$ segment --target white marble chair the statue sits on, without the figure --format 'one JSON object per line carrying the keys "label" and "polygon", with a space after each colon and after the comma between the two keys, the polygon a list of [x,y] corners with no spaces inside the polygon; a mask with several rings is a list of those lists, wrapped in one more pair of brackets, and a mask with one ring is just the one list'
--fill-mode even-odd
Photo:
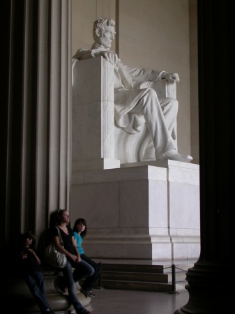
{"label": "white marble chair the statue sits on, without the figure", "polygon": [[[135,134],[115,125],[113,71],[103,57],[73,59],[73,170],[108,169],[154,159],[145,124]],[[176,98],[176,84],[167,80],[145,82],[144,87],[155,89],[158,98]]]}

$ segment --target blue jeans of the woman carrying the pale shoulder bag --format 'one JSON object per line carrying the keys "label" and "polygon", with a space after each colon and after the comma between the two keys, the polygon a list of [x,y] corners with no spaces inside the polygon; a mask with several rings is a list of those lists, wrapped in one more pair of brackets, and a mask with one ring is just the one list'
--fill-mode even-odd
{"label": "blue jeans of the woman carrying the pale shoulder bag", "polygon": [[[73,271],[73,268],[75,270]],[[82,304],[77,299],[77,295],[75,294],[75,283],[86,276],[91,276],[94,272],[93,267],[84,261],[75,263],[67,260],[66,266],[61,269],[63,272],[63,276],[66,280],[67,287],[68,287],[68,296],[70,298],[71,304],[75,308],[76,313],[86,313]]]}

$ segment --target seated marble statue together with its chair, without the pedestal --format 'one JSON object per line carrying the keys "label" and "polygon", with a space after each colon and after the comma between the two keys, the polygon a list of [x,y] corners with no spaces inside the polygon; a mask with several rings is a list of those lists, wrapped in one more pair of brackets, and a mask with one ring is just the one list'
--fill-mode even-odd
{"label": "seated marble statue together with its chair, without the pedestal", "polygon": [[[73,56],[76,169],[84,169],[80,159],[95,157],[116,158],[121,163],[189,162],[190,156],[177,151],[175,84],[179,75],[123,65],[110,50],[114,25],[112,19],[96,20],[91,49],[80,48]],[[90,163],[90,169],[96,169],[96,163]]]}

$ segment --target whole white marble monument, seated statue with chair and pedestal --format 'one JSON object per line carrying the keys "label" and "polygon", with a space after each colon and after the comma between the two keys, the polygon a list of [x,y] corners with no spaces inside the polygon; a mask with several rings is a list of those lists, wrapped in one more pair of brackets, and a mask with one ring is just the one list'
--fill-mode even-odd
{"label": "whole white marble monument, seated statue with chair and pedestal", "polygon": [[[175,153],[179,77],[128,70],[109,50],[114,38],[109,22],[103,30],[95,27],[91,50],[78,50],[73,59],[71,223],[86,219],[89,236],[84,248],[92,257],[195,257],[199,167],[176,161],[191,159]],[[165,100],[158,100],[157,94]],[[140,96],[146,110],[135,106]],[[171,108],[170,131],[163,105]]]}

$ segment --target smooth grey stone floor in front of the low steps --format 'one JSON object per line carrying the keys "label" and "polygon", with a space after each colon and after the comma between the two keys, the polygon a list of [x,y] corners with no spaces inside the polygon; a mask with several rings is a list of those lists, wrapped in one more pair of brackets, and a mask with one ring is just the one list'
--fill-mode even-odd
{"label": "smooth grey stone floor in front of the low steps", "polygon": [[94,290],[93,314],[173,314],[188,302],[188,292],[176,294],[129,290]]}

